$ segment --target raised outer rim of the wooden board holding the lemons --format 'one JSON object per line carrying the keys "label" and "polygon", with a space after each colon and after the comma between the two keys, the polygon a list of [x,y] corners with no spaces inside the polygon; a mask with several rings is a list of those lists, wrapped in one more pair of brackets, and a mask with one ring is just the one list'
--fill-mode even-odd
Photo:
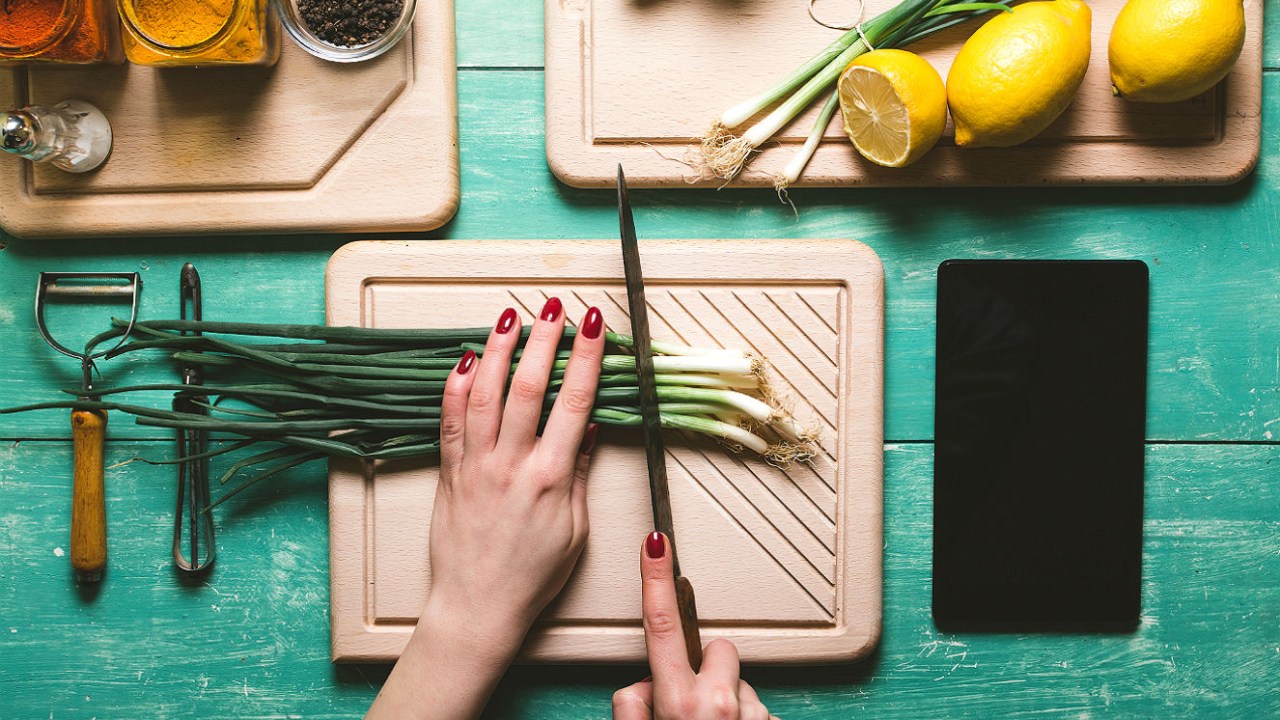
{"label": "raised outer rim of the wooden board holding the lemons", "polygon": [[[692,145],[663,145],[650,147],[644,143],[595,145],[589,137],[588,119],[584,118],[585,94],[589,92],[590,78],[579,76],[561,77],[559,69],[579,64],[579,45],[584,42],[580,32],[573,28],[573,19],[581,17],[590,0],[564,6],[559,0],[545,0],[545,108],[547,108],[547,164],[552,173],[564,184],[582,190],[613,187],[613,168],[621,163],[627,169],[627,182],[640,188],[758,188],[773,187],[773,177],[763,172],[745,170],[730,183],[718,178],[699,178],[694,167],[675,155],[684,155]],[[1235,67],[1228,76],[1225,86],[1219,87],[1225,108],[1236,104],[1239,110],[1224,113],[1222,140],[1201,146],[1130,146],[1140,151],[1137,168],[1124,172],[1051,172],[1037,174],[1006,174],[1009,165],[1028,165],[1034,168],[1039,149],[1015,147],[1004,150],[983,150],[978,152],[998,152],[998,163],[977,163],[980,170],[977,176],[963,173],[924,174],[902,170],[872,169],[873,177],[815,179],[823,172],[838,173],[836,154],[847,155],[852,149],[841,143],[819,146],[809,168],[801,174],[794,187],[1005,187],[1038,186],[1066,187],[1079,184],[1096,186],[1187,186],[1187,184],[1233,184],[1248,177],[1257,165],[1262,145],[1262,53],[1263,53],[1263,5],[1262,0],[1245,8],[1245,45]],[[1225,87],[1225,90],[1224,90]],[[1119,100],[1117,100],[1119,101]],[[561,133],[561,123],[553,118],[579,118],[568,133]],[[1064,146],[1060,164],[1106,168],[1111,163],[1114,142],[1073,143]],[[838,147],[837,147],[838,146]],[[957,149],[940,149],[959,154]],[[934,150],[937,152],[938,150]],[[975,151],[966,151],[974,156]],[[961,155],[957,155],[961,156]],[[672,173],[673,165],[684,170]],[[599,169],[596,169],[599,168]],[[824,170],[823,168],[828,168]],[[995,169],[992,169],[995,168]],[[1189,169],[1196,174],[1183,177]]]}

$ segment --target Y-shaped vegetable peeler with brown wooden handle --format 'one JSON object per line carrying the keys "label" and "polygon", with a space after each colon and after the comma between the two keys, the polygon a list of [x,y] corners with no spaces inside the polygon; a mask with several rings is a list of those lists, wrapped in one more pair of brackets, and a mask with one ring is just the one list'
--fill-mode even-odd
{"label": "Y-shaped vegetable peeler with brown wooden handle", "polygon": [[[40,273],[36,286],[36,329],[50,347],[81,361],[81,400],[93,389],[95,360],[124,345],[138,319],[138,273]],[[129,324],[120,342],[100,352],[77,352],[58,342],[45,323],[50,300],[93,301],[128,300]],[[102,441],[106,411],[72,410],[74,474],[72,477],[72,568],[82,582],[102,579],[106,569],[106,498],[102,483]]]}

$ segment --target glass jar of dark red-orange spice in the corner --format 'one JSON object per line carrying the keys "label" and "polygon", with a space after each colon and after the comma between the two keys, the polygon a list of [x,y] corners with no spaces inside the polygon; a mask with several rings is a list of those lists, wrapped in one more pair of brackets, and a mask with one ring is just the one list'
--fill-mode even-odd
{"label": "glass jar of dark red-orange spice in the corner", "polygon": [[0,64],[119,63],[113,0],[0,0]]}

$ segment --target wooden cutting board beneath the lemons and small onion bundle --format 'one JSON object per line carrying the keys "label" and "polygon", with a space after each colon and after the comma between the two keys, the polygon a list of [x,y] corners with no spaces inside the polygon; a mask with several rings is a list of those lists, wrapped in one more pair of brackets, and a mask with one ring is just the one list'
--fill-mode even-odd
{"label": "wooden cutting board beneath the lemons and small onion bundle", "polygon": [[[1068,111],[1012,149],[960,150],[947,131],[923,160],[900,169],[864,160],[838,114],[800,186],[1020,186],[1228,183],[1254,165],[1261,143],[1262,1],[1244,0],[1245,42],[1228,79],[1172,105],[1111,96],[1107,38],[1125,0],[1089,0],[1093,56]],[[865,0],[865,18],[899,0]],[[718,187],[699,178],[695,143],[722,111],[773,86],[841,35],[813,22],[806,0],[545,0],[547,158],[575,187],[612,187],[618,163],[641,187]],[[815,13],[852,22],[858,3],[823,0]],[[910,46],[945,79],[965,23]],[[773,187],[804,142],[817,105],[767,143],[732,183]]]}

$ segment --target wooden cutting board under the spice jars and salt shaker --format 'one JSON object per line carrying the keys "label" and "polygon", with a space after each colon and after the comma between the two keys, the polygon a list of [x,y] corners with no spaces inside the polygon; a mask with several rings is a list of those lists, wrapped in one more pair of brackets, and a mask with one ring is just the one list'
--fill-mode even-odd
{"label": "wooden cutting board under the spice jars and salt shaker", "polygon": [[0,69],[8,106],[93,102],[111,158],[74,176],[0,158],[19,237],[394,232],[458,205],[453,0],[422,0],[387,55],[343,65],[287,37],[273,68]]}

